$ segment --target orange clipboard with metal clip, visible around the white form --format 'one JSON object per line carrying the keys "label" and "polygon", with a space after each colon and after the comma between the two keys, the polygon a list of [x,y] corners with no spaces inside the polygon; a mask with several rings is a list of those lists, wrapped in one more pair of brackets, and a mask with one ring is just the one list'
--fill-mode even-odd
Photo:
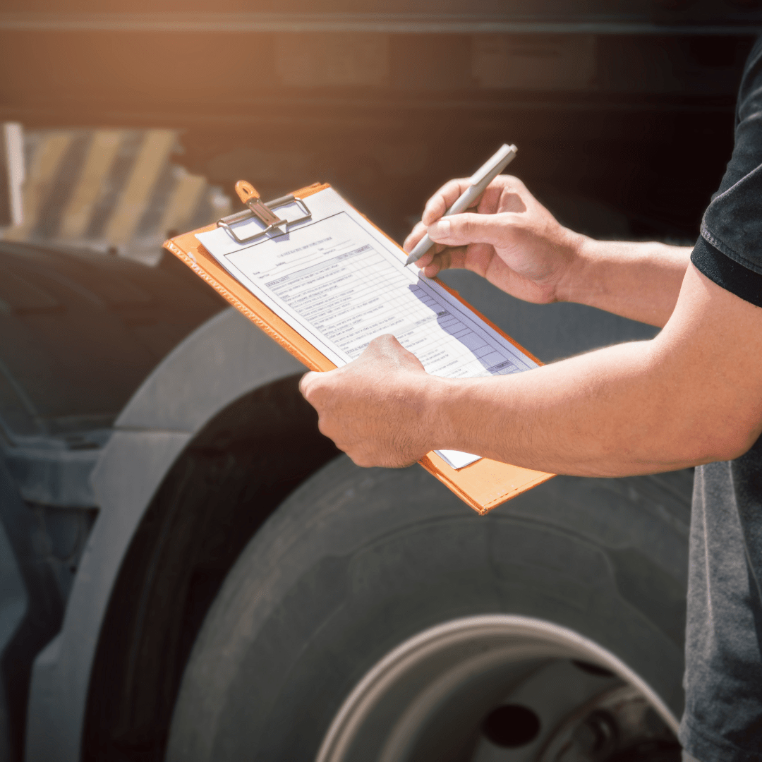
{"label": "orange clipboard with metal clip, visible around the white form", "polygon": [[[309,206],[306,202],[313,194],[324,191],[330,187],[327,183],[315,183],[307,187],[300,188],[298,191],[294,191],[293,194],[276,199],[271,202],[262,203],[259,200],[254,188],[245,181],[239,181],[236,184],[236,191],[239,192],[239,196],[245,203],[248,203],[249,209],[236,213],[235,215],[228,216],[218,221],[213,225],[208,225],[191,232],[177,235],[172,239],[169,239],[164,243],[164,248],[171,251],[178,259],[187,264],[194,273],[200,278],[206,280],[207,283],[216,290],[220,296],[223,296],[227,301],[242,312],[251,322],[264,331],[270,338],[277,341],[283,349],[296,357],[299,362],[303,363],[309,370],[325,371],[333,370],[336,366],[334,362],[325,357],[322,352],[312,346],[309,341],[300,335],[295,328],[289,325],[279,315],[276,315],[267,305],[261,302],[257,296],[251,291],[239,283],[231,274],[229,274],[203,247],[201,242],[196,238],[197,233],[207,232],[216,227],[226,227],[233,223],[239,222],[245,219],[247,216],[257,216],[261,222],[269,229],[277,228],[285,230],[289,223],[277,217],[277,208],[285,205],[286,203],[296,203],[299,205],[299,210],[305,215],[302,219],[308,219],[310,214]],[[253,193],[252,193],[253,192]],[[264,208],[261,208],[264,207]],[[269,212],[269,214],[268,214]],[[364,215],[363,215],[364,217]],[[274,219],[273,219],[274,218]],[[367,219],[367,217],[365,217]],[[301,221],[301,219],[299,219]],[[368,220],[370,223],[370,220]],[[292,220],[290,224],[296,224],[296,221]],[[370,223],[373,225],[373,223]],[[384,238],[392,242],[395,248],[402,248],[392,239],[389,238],[383,230],[377,226],[373,227],[378,230]],[[235,236],[235,239],[239,242],[243,242]],[[437,279],[437,283],[443,289],[447,290],[459,303],[466,306],[471,312],[482,319],[487,325],[498,332],[504,339],[509,341],[518,350],[527,354],[532,360],[541,365],[539,360],[533,356],[530,352],[520,346],[517,341],[514,341],[510,336],[506,335],[504,331],[501,331],[497,325],[485,318],[478,310],[474,309],[465,299],[461,299],[459,294],[447,287]],[[487,514],[492,508],[497,507],[501,503],[504,503],[511,498],[517,497],[522,492],[525,492],[543,482],[552,479],[554,474],[532,471],[530,469],[520,468],[519,466],[511,466],[507,463],[500,463],[496,460],[488,458],[481,458],[475,463],[471,463],[468,466],[464,466],[461,469],[454,469],[448,463],[446,463],[437,453],[428,453],[426,456],[418,461],[421,466],[424,467],[429,473],[434,475],[444,485],[447,485],[456,495],[458,495],[463,502],[472,507],[479,514]]]}

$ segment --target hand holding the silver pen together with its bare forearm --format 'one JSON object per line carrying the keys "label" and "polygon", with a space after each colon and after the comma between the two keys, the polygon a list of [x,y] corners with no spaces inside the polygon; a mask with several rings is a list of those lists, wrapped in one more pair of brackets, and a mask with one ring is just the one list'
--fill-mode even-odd
{"label": "hand holding the silver pen together with its bare forearm", "polygon": [[577,302],[651,325],[668,321],[690,248],[594,241],[562,226],[523,182],[504,174],[475,212],[443,217],[468,184],[443,185],[405,241],[405,251],[425,232],[436,242],[418,260],[426,277],[463,268],[526,302]]}

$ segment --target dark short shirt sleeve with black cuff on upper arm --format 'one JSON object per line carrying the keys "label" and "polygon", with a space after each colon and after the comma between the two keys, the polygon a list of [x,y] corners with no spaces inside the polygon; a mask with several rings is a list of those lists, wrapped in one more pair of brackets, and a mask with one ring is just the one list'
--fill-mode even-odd
{"label": "dark short shirt sleeve with black cuff on upper arm", "polygon": [[733,155],[690,260],[722,288],[762,307],[762,37],[741,79]]}

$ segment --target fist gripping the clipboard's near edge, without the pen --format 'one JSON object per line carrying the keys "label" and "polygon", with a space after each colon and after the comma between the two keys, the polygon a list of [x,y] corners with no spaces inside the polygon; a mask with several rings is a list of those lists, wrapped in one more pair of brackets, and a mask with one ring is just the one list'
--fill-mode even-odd
{"label": "fist gripping the clipboard's near edge, without the pen", "polygon": [[357,466],[399,468],[432,449],[424,394],[432,383],[415,354],[384,335],[344,367],[306,373],[299,389],[318,411],[322,434]]}

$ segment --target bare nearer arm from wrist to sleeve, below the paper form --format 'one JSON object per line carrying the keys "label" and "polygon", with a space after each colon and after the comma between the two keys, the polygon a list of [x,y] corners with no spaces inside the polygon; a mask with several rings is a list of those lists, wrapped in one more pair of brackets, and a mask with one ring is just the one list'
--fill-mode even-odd
{"label": "bare nearer arm from wrist to sleeve, below the paper form", "polygon": [[691,267],[652,341],[511,376],[435,379],[427,444],[570,475],[735,459],[762,433],[760,320],[762,310]]}

